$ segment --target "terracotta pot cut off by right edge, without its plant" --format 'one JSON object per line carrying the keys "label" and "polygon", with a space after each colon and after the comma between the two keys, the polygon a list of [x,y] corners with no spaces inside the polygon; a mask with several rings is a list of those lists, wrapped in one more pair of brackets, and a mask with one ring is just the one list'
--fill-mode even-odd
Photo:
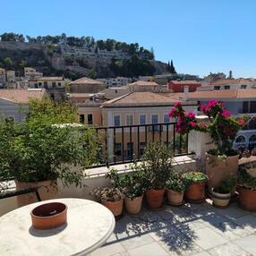
{"label": "terracotta pot cut off by right edge, without its plant", "polygon": [[241,208],[256,211],[256,191],[239,187],[239,205]]}

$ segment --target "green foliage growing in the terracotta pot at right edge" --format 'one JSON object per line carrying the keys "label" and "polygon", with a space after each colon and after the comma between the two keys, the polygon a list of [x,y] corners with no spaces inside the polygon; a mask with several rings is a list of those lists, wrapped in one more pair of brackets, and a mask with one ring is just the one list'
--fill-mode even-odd
{"label": "green foliage growing in the terracotta pot at right edge", "polygon": [[253,166],[241,167],[238,170],[237,183],[246,189],[256,190],[256,169]]}

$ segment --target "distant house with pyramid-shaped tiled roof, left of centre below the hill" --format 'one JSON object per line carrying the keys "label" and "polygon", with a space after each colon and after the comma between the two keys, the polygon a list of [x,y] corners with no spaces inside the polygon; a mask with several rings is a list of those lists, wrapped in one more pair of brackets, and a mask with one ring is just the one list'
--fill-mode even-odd
{"label": "distant house with pyramid-shaped tiled roof, left of centre below the hill", "polygon": [[68,88],[71,93],[97,93],[100,90],[106,89],[107,85],[102,81],[82,77],[76,81],[70,82]]}

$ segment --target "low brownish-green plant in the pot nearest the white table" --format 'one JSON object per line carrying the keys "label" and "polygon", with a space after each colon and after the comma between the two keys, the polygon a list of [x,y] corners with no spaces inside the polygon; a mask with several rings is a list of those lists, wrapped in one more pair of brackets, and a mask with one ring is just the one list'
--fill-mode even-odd
{"label": "low brownish-green plant in the pot nearest the white table", "polygon": [[123,193],[115,187],[98,187],[91,194],[94,194],[100,201],[120,201]]}

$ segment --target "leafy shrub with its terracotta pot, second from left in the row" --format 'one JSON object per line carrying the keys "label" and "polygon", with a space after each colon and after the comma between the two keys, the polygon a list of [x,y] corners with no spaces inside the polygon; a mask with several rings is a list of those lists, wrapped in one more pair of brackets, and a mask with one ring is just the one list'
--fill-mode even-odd
{"label": "leafy shrub with its terracotta pot, second from left in the row", "polygon": [[124,174],[117,174],[115,169],[112,169],[107,177],[124,193],[124,205],[127,212],[137,214],[141,211],[144,188],[141,183],[141,168],[135,164],[132,169],[132,172]]}

